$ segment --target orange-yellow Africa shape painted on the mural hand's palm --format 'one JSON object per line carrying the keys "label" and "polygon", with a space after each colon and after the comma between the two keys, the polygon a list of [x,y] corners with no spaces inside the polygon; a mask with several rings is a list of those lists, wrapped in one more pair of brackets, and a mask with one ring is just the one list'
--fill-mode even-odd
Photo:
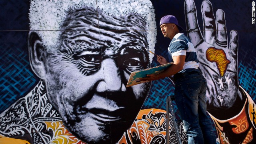
{"label": "orange-yellow Africa shape painted on the mural hand's palm", "polygon": [[224,50],[214,47],[208,48],[208,50],[206,50],[206,58],[210,62],[215,62],[220,72],[220,76],[224,76],[227,71],[228,64],[230,64],[230,60],[227,59]]}

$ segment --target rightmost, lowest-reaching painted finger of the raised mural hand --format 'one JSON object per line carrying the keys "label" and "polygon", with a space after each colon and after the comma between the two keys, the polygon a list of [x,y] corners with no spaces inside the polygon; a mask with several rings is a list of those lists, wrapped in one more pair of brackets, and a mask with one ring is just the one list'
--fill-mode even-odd
{"label": "rightmost, lowest-reaching painted finger of the raised mural hand", "polygon": [[237,61],[238,61],[238,33],[235,30],[230,32],[230,42],[229,42],[229,56],[232,58],[230,69],[237,71]]}

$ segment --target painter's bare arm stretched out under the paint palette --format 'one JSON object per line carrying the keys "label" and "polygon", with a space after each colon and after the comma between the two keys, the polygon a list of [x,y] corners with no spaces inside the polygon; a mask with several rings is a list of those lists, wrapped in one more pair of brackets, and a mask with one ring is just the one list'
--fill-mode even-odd
{"label": "painter's bare arm stretched out under the paint palette", "polygon": [[141,81],[159,80],[161,78],[172,76],[183,69],[185,58],[186,56],[173,56],[172,60],[174,63],[169,68],[167,68],[166,70],[164,70],[159,74],[148,74],[147,77],[140,78],[140,80]]}

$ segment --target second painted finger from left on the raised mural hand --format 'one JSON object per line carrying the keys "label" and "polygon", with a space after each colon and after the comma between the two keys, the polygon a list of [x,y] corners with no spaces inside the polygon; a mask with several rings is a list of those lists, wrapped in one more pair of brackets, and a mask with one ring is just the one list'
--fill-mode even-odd
{"label": "second painted finger from left on the raised mural hand", "polygon": [[204,40],[208,44],[214,44],[216,36],[216,24],[211,2],[204,0],[201,6],[201,12],[203,15],[204,24]]}

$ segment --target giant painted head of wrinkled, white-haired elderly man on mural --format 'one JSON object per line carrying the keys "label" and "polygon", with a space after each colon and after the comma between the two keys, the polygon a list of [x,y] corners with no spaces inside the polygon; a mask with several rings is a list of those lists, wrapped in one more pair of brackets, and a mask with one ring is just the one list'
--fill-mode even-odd
{"label": "giant painted head of wrinkled, white-haired elderly man on mural", "polygon": [[150,84],[125,86],[131,72],[149,68],[145,48],[154,51],[156,36],[147,31],[156,29],[151,2],[97,4],[35,0],[29,15],[32,69],[65,125],[90,143],[110,139],[109,123],[130,120],[114,133],[121,137],[136,118]]}

